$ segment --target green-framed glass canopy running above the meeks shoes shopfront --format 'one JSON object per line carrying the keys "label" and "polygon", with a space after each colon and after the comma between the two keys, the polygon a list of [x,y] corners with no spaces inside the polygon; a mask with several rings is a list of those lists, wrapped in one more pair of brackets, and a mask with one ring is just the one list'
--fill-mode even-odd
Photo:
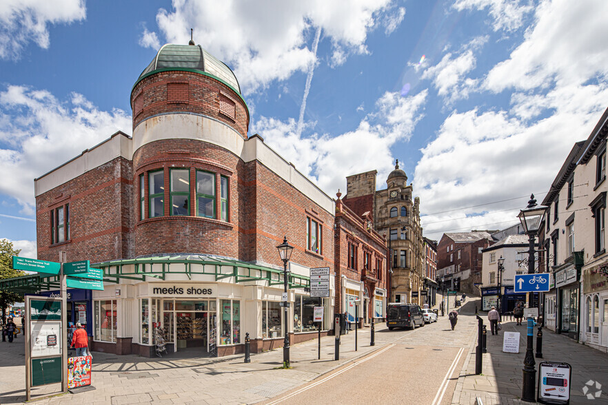
{"label": "green-framed glass canopy running above the meeks shoes shopfront", "polygon": [[[283,269],[231,260],[212,255],[176,255],[148,258],[110,260],[91,264],[102,269],[103,282],[119,283],[120,280],[166,280],[172,274],[185,274],[190,280],[194,275],[212,275],[216,281],[233,277],[236,282],[263,280],[268,286],[283,284]],[[310,287],[310,277],[288,273],[290,289]],[[35,293],[59,289],[59,276],[43,277],[38,274],[0,280],[0,289],[19,293]]]}

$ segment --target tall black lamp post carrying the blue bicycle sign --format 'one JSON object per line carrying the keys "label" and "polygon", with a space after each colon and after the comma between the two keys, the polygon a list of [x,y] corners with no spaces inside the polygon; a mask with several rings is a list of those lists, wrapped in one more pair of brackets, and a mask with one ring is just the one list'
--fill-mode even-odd
{"label": "tall black lamp post carrying the blue bicycle sign", "polygon": [[[534,273],[534,239],[540,226],[540,222],[543,222],[543,216],[547,207],[544,205],[536,205],[534,194],[531,194],[528,206],[522,209],[518,215],[521,225],[527,233],[529,238],[529,249],[528,249],[528,274]],[[529,296],[528,307],[531,307],[533,300],[533,294]],[[527,319],[527,346],[526,355],[524,357],[524,368],[523,368],[523,384],[522,384],[522,395],[521,399],[525,402],[536,402],[535,391],[536,391],[536,362],[534,361],[534,351],[532,344],[534,340],[534,320],[532,318]]]}

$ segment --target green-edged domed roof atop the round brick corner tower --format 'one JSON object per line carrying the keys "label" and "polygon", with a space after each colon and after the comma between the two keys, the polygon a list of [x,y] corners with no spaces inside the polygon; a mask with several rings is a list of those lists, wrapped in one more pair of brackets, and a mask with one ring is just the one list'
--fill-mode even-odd
{"label": "green-edged domed roof atop the round brick corner tower", "polygon": [[[152,62],[139,75],[135,85],[146,76],[166,70],[185,70],[210,74],[219,81],[232,87],[241,94],[241,86],[234,72],[225,63],[204,50],[201,45],[176,45],[168,43],[162,46]],[[135,87],[135,85],[133,87]]]}

